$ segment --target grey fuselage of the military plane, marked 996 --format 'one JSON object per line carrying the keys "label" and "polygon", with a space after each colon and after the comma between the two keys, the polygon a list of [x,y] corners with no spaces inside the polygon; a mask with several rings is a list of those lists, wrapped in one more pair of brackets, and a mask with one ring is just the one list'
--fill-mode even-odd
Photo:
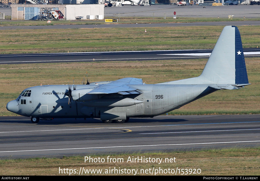
{"label": "grey fuselage of the military plane, marked 996", "polygon": [[[68,103],[68,85],[43,85],[25,89],[30,96],[20,95],[7,105],[8,110],[22,116],[40,118],[101,118],[126,119],[153,117],[178,109],[215,89],[208,85],[129,85],[142,90],[141,94],[118,93],[90,101]],[[96,88],[96,85],[77,85],[77,90]],[[95,98],[95,97],[94,97]],[[121,101],[121,102],[120,102]]]}

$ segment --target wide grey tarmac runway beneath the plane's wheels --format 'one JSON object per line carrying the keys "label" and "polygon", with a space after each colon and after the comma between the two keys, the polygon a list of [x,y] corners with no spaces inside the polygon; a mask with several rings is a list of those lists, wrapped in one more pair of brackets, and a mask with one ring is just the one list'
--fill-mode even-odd
{"label": "wide grey tarmac runway beneath the plane's wheels", "polygon": [[99,119],[0,117],[0,159],[260,146],[260,115]]}

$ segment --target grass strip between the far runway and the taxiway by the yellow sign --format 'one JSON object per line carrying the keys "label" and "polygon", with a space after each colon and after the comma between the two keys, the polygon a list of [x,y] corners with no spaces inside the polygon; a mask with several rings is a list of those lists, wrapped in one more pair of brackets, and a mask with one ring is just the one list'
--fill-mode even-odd
{"label": "grass strip between the far runway and the taxiway by the yellow sign", "polygon": [[[0,30],[0,52],[46,53],[209,49],[224,26]],[[144,32],[144,30],[147,32]],[[260,47],[259,26],[241,26],[244,48]]]}

